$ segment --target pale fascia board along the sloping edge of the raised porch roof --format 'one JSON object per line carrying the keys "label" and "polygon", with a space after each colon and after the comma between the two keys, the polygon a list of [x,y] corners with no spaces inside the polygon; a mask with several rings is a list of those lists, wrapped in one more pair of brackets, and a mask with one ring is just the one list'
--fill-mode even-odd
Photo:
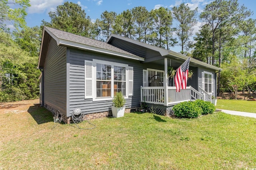
{"label": "pale fascia board along the sloping edge of the raised porch roof", "polygon": [[122,37],[120,35],[115,35],[115,34],[110,34],[110,36],[108,37],[106,43],[108,43],[108,41],[110,41],[110,38],[111,37],[115,37],[115,38],[118,38],[118,39],[122,39],[124,41],[127,41],[129,43],[133,43],[133,44],[136,44],[136,45],[139,45],[139,46],[142,46],[142,47],[145,47],[145,48],[148,48],[148,49],[152,49],[154,51],[158,51],[162,56],[166,56],[168,55],[169,51],[166,50],[166,49],[162,49],[160,47],[156,47],[154,45],[150,45],[150,44],[147,44],[147,43],[142,43],[140,41],[136,41],[134,39],[130,39],[130,38],[126,38],[126,37]]}

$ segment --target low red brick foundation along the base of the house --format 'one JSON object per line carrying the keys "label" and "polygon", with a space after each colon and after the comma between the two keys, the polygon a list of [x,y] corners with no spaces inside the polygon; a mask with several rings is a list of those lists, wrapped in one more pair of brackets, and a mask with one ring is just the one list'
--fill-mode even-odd
{"label": "low red brick foundation along the base of the house", "polygon": [[[57,112],[58,112],[58,110],[54,109],[53,107],[51,107],[51,106],[49,106],[47,104],[44,104],[44,107],[48,111],[50,111],[53,115],[56,115]],[[125,111],[124,111],[124,113],[130,113],[130,112],[131,112],[130,108],[129,109],[125,109]],[[86,116],[86,118],[88,120],[90,120],[90,119],[98,119],[98,118],[102,118],[102,117],[112,116],[112,111],[110,110],[110,111],[104,111],[104,112],[98,112],[98,113],[90,113],[90,114],[86,114],[85,116]],[[86,118],[84,117],[84,120]],[[72,122],[72,119],[71,119],[71,117],[66,117],[65,115],[62,114],[62,121],[64,123],[68,123],[69,124],[70,122]]]}

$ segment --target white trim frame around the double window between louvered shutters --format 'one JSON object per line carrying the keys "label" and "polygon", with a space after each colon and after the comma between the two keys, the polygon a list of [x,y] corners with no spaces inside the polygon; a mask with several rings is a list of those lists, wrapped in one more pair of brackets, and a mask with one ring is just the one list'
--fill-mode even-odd
{"label": "white trim frame around the double window between louvered shutters", "polygon": [[[128,64],[121,64],[121,63],[115,63],[115,62],[110,62],[110,61],[103,61],[103,60],[97,60],[97,59],[93,59],[92,60],[92,101],[106,101],[106,100],[113,100],[114,97],[114,88],[111,88],[111,97],[101,97],[101,98],[97,98],[96,96],[96,64],[108,64],[111,65],[111,73],[114,72],[114,68],[112,68],[113,65],[115,66],[122,66],[122,67],[126,67],[126,87],[125,87],[125,94],[126,96],[124,96],[124,99],[128,99],[129,96],[129,91],[128,91],[128,84],[129,84],[129,66]],[[114,87],[114,74],[111,74],[111,87]]]}

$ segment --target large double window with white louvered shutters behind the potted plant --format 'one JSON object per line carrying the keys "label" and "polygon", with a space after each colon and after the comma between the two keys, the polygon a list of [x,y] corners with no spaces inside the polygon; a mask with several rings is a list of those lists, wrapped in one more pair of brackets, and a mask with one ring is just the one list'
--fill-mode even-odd
{"label": "large double window with white louvered shutters behind the potted plant", "polygon": [[85,98],[112,100],[117,92],[133,95],[133,67],[108,61],[85,61]]}

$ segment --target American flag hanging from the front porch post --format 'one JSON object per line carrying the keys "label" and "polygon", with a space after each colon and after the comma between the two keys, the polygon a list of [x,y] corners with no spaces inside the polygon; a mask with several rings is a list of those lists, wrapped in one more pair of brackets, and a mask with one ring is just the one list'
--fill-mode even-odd
{"label": "American flag hanging from the front porch post", "polygon": [[188,67],[190,57],[178,68],[174,82],[176,86],[176,92],[180,92],[180,89],[186,89],[188,80]]}

